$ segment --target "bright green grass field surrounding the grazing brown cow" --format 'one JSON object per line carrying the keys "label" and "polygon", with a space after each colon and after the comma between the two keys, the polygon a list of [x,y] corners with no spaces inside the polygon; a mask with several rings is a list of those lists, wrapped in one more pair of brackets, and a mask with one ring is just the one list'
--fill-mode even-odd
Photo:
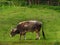
{"label": "bright green grass field surrounding the grazing brown cow", "polygon": [[[10,37],[10,30],[25,20],[43,21],[47,39],[43,39],[42,32],[40,40],[34,40],[35,33],[26,34],[26,38],[32,40],[19,40],[19,35]],[[59,42],[60,6],[0,7],[0,45],[59,45]]]}

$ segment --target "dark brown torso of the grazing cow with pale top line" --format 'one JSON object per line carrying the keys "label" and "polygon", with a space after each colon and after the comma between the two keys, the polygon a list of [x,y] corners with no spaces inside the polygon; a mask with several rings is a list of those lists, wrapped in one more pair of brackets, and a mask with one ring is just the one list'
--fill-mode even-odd
{"label": "dark brown torso of the grazing cow with pale top line", "polygon": [[40,28],[41,24],[38,21],[24,21],[17,26],[20,31],[35,31],[35,29]]}

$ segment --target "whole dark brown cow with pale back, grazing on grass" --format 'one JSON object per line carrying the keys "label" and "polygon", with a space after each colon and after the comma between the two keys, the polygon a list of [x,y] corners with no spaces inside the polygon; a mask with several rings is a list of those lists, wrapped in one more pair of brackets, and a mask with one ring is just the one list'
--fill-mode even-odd
{"label": "whole dark brown cow with pale back, grazing on grass", "polygon": [[42,22],[34,21],[34,20],[20,22],[16,26],[16,28],[12,29],[10,34],[12,37],[15,36],[16,34],[20,34],[20,39],[21,36],[23,35],[24,39],[26,40],[26,36],[25,36],[26,32],[36,32],[36,39],[40,39],[41,28],[42,28],[43,37],[45,38]]}

